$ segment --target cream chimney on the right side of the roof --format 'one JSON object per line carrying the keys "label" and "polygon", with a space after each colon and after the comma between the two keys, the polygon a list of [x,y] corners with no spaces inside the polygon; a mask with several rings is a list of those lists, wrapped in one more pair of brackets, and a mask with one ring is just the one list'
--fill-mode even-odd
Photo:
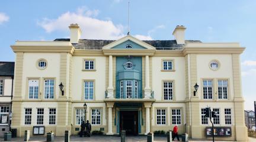
{"label": "cream chimney on the right side of the roof", "polygon": [[174,35],[177,44],[185,44],[185,27],[184,25],[177,25],[172,35]]}

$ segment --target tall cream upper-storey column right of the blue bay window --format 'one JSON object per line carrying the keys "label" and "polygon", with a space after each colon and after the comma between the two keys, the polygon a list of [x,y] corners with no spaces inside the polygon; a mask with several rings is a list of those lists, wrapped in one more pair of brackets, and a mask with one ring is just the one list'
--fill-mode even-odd
{"label": "tall cream upper-storey column right of the blue bay window", "polygon": [[151,88],[149,86],[149,56],[145,57],[145,88],[144,88],[144,98],[149,98],[151,96]]}

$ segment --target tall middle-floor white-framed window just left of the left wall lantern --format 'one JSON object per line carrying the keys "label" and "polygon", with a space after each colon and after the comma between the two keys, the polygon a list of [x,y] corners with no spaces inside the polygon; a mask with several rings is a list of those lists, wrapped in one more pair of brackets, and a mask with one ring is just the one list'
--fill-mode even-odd
{"label": "tall middle-floor white-framed window just left of the left wall lantern", "polygon": [[54,79],[44,79],[44,99],[53,99],[54,98]]}

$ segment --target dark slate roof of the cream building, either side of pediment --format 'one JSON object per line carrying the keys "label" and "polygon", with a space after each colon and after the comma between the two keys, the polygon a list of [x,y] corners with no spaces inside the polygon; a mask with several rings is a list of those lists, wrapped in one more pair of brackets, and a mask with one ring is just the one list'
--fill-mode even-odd
{"label": "dark slate roof of the cream building, either side of pediment", "polygon": [[[57,38],[54,41],[70,41],[69,38]],[[103,46],[110,44],[116,40],[88,40],[80,39],[77,44],[73,44],[74,47],[97,47],[102,49]],[[142,40],[145,43],[150,44],[156,49],[162,50],[167,47],[183,47],[184,44],[177,44],[176,40]],[[201,43],[200,40],[186,40],[189,43]],[[95,49],[95,48],[94,48]]]}

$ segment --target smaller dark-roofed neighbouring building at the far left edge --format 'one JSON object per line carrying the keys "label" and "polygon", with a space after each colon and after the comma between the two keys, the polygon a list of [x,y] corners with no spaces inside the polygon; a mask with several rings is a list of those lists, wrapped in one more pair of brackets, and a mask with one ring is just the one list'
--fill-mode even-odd
{"label": "smaller dark-roofed neighbouring building at the far left edge", "polygon": [[11,124],[12,82],[14,62],[0,62],[0,137],[9,131]]}

